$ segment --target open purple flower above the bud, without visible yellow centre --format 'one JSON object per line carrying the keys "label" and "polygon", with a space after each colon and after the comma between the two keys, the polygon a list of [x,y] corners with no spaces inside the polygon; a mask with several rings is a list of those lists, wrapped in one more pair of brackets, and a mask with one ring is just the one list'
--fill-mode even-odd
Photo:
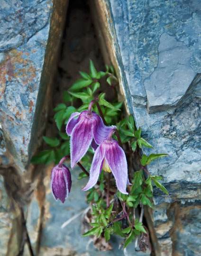
{"label": "open purple flower above the bud, without visible yellow centre", "polygon": [[[71,168],[81,160],[91,145],[92,139],[100,143],[106,139],[114,127],[107,127],[94,111],[84,110],[73,113],[66,125],[66,133],[71,136]],[[95,143],[92,145],[95,145]]]}

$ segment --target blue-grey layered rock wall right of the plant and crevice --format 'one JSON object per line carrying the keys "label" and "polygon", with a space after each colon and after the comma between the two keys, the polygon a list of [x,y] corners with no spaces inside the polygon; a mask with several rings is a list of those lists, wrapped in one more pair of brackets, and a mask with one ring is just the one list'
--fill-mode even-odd
{"label": "blue-grey layered rock wall right of the plant and crevice", "polygon": [[200,255],[200,1],[91,0],[91,9],[128,111],[154,146],[143,153],[169,154],[148,166],[170,193],[155,190],[147,213],[156,254]]}

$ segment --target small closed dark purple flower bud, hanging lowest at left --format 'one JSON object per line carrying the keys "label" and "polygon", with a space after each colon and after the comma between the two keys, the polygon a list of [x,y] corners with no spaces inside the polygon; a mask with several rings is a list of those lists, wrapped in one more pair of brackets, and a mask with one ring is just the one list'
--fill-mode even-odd
{"label": "small closed dark purple flower bud, hanging lowest at left", "polygon": [[67,157],[64,156],[58,165],[52,169],[50,188],[55,197],[55,200],[61,200],[63,203],[68,197],[71,190],[71,173],[69,169],[62,165]]}

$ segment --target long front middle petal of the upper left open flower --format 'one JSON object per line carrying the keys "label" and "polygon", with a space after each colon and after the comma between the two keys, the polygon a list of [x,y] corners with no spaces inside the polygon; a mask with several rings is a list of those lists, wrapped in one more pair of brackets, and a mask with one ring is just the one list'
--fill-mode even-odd
{"label": "long front middle petal of the upper left open flower", "polygon": [[71,134],[71,168],[73,169],[75,164],[86,154],[88,148],[91,145],[93,138],[91,132],[92,119],[83,118],[79,119],[79,122],[73,128]]}

